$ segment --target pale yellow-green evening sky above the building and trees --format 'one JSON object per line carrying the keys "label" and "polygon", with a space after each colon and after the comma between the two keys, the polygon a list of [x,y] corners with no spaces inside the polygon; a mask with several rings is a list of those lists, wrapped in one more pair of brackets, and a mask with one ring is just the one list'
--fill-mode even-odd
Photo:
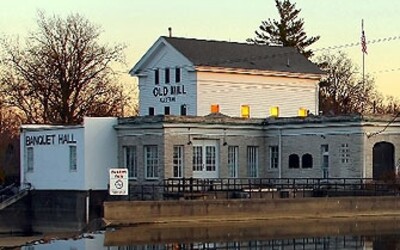
{"label": "pale yellow-green evening sky above the building and trees", "polygon": [[[308,35],[320,35],[314,49],[360,42],[364,19],[368,44],[366,72],[385,95],[400,97],[400,1],[297,0]],[[102,41],[124,43],[127,72],[159,36],[245,42],[262,20],[278,18],[274,0],[0,0],[0,35],[26,37],[36,27],[37,11],[66,16],[80,13],[100,25]],[[344,46],[362,66],[360,46]],[[331,50],[332,53],[338,49]]]}

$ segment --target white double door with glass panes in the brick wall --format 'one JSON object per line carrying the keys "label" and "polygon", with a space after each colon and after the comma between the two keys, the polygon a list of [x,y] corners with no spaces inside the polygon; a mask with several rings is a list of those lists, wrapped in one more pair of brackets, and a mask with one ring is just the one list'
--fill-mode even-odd
{"label": "white double door with glass panes in the brick wall", "polygon": [[193,178],[218,178],[218,156],[217,140],[193,141]]}

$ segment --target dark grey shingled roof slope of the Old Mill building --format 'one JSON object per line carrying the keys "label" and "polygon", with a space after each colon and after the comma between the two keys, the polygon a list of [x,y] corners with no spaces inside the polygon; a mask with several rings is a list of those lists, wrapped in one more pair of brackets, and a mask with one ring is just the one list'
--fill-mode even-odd
{"label": "dark grey shingled roof slope of the Old Mill building", "polygon": [[323,72],[295,48],[249,43],[162,37],[195,66],[291,73]]}

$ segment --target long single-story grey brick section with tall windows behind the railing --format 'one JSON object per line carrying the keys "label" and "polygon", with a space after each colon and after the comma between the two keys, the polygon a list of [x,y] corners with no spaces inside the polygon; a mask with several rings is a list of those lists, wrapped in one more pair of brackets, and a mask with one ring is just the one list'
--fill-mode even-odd
{"label": "long single-story grey brick section with tall windows behind the railing", "polygon": [[[381,178],[398,171],[400,123],[374,117],[120,119],[132,183],[168,178]],[[386,129],[385,129],[386,128]]]}

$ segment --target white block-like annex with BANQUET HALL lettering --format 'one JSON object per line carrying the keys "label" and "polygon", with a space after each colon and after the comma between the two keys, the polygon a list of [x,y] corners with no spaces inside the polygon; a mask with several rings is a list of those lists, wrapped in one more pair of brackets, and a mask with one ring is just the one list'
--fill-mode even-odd
{"label": "white block-like annex with BANQUET HALL lettering", "polygon": [[21,183],[35,190],[107,190],[117,166],[117,118],[86,117],[82,125],[23,125]]}

